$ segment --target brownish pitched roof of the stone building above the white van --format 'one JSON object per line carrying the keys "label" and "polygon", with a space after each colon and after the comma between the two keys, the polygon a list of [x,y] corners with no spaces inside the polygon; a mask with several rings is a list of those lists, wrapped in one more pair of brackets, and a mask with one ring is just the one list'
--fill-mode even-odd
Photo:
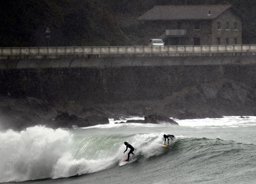
{"label": "brownish pitched roof of the stone building above the white van", "polygon": [[222,5],[156,5],[139,20],[200,20],[213,19],[230,8],[230,4]]}

